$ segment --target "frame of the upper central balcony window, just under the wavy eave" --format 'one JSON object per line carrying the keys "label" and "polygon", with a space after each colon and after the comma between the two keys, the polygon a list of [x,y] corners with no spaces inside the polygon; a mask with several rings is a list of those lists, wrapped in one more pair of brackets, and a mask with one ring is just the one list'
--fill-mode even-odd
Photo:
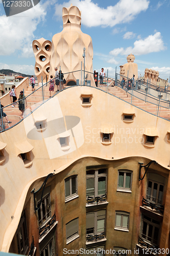
{"label": "frame of the upper central balcony window, just under the wavy eave", "polygon": [[[105,174],[99,174],[99,170],[101,169],[106,169],[106,173]],[[90,171],[90,170],[94,170],[94,175],[87,175],[87,172]],[[99,196],[103,196],[103,195],[106,195],[107,194],[107,173],[108,173],[108,169],[106,167],[102,167],[102,168],[98,168],[98,169],[86,169],[86,199],[89,197],[89,195],[87,195],[87,180],[88,179],[94,179],[94,196],[90,196],[90,197],[99,197]],[[102,177],[106,177],[105,178],[105,194],[101,194],[99,195],[99,178],[102,178]]]}

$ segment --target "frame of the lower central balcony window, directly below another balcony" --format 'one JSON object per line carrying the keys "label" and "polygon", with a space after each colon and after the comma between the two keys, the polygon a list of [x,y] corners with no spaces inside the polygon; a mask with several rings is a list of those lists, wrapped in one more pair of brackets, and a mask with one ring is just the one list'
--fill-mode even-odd
{"label": "frame of the lower central balcony window, directly below another balcony", "polygon": [[[98,216],[100,211],[105,211],[105,214]],[[87,233],[87,215],[89,214],[94,214],[94,227],[93,227],[93,232],[91,233]],[[103,216],[104,218],[101,218],[101,216]],[[104,231],[98,231],[98,220],[104,220]],[[86,237],[88,236],[88,234],[95,236],[96,234],[101,234],[102,232],[106,232],[106,209],[87,212],[86,213]]]}

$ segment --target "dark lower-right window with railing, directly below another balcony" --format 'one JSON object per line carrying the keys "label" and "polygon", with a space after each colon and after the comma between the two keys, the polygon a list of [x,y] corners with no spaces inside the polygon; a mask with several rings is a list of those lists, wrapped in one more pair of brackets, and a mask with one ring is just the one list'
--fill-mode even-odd
{"label": "dark lower-right window with railing, directly below another balcony", "polygon": [[158,245],[160,222],[143,216],[141,237],[154,245]]}

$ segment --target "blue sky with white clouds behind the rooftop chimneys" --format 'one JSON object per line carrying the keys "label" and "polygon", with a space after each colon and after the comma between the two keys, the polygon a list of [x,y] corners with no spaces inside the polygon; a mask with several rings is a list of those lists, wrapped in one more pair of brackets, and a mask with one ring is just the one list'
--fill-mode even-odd
{"label": "blue sky with white clouds behind the rooftop chimneys", "polygon": [[82,32],[92,38],[93,70],[104,68],[114,78],[132,53],[138,76],[149,68],[169,79],[170,0],[40,0],[10,17],[0,2],[0,69],[34,74],[33,40],[52,41],[63,29],[62,8],[71,3],[81,11]]}

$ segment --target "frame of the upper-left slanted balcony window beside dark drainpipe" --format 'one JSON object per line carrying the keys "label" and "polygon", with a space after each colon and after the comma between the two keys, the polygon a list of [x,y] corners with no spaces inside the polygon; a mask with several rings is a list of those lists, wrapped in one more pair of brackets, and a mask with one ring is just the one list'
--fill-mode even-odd
{"label": "frame of the upper-left slanted balcony window beside dark drainpipe", "polygon": [[[51,218],[52,218],[50,188],[47,187],[47,189],[48,189],[48,193],[47,193],[45,196],[43,196],[43,198],[42,198],[42,202],[44,201],[45,216],[43,216],[42,202],[41,202],[40,208],[37,210],[37,214],[38,214],[38,226],[39,226],[39,227],[44,226],[44,225],[45,225],[48,221],[50,221]],[[49,210],[48,210],[48,212],[47,212],[47,209],[46,209],[46,200],[45,200],[45,199],[47,199],[47,197],[49,198],[49,199],[48,199],[48,204],[49,204]],[[40,202],[40,200],[37,201],[37,205],[38,205],[39,202]],[[40,213],[41,219],[39,219],[39,213]],[[48,214],[49,214],[49,216],[47,216]],[[45,217],[45,221],[43,221],[43,217]],[[40,223],[40,221],[41,221],[41,223]],[[43,222],[42,222],[42,221],[43,221]]]}

